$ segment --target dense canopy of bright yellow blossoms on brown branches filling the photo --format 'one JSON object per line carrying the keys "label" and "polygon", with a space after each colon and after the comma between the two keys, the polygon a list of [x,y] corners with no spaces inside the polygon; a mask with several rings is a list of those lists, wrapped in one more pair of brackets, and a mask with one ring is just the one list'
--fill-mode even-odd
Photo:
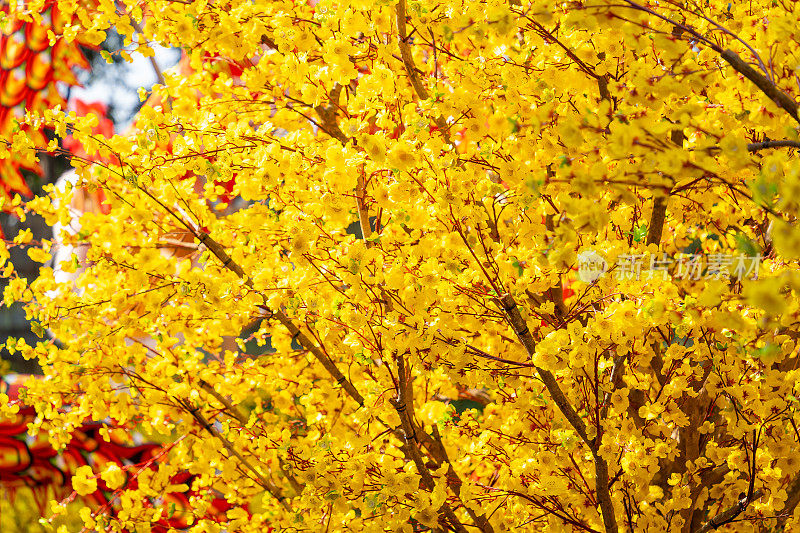
{"label": "dense canopy of bright yellow blossoms on brown branches filling the photo", "polygon": [[37,428],[172,443],[87,527],[179,471],[198,532],[796,526],[794,2],[58,6],[186,57],[128,134],[27,118],[109,206],[26,206],[88,250],[6,272]]}

